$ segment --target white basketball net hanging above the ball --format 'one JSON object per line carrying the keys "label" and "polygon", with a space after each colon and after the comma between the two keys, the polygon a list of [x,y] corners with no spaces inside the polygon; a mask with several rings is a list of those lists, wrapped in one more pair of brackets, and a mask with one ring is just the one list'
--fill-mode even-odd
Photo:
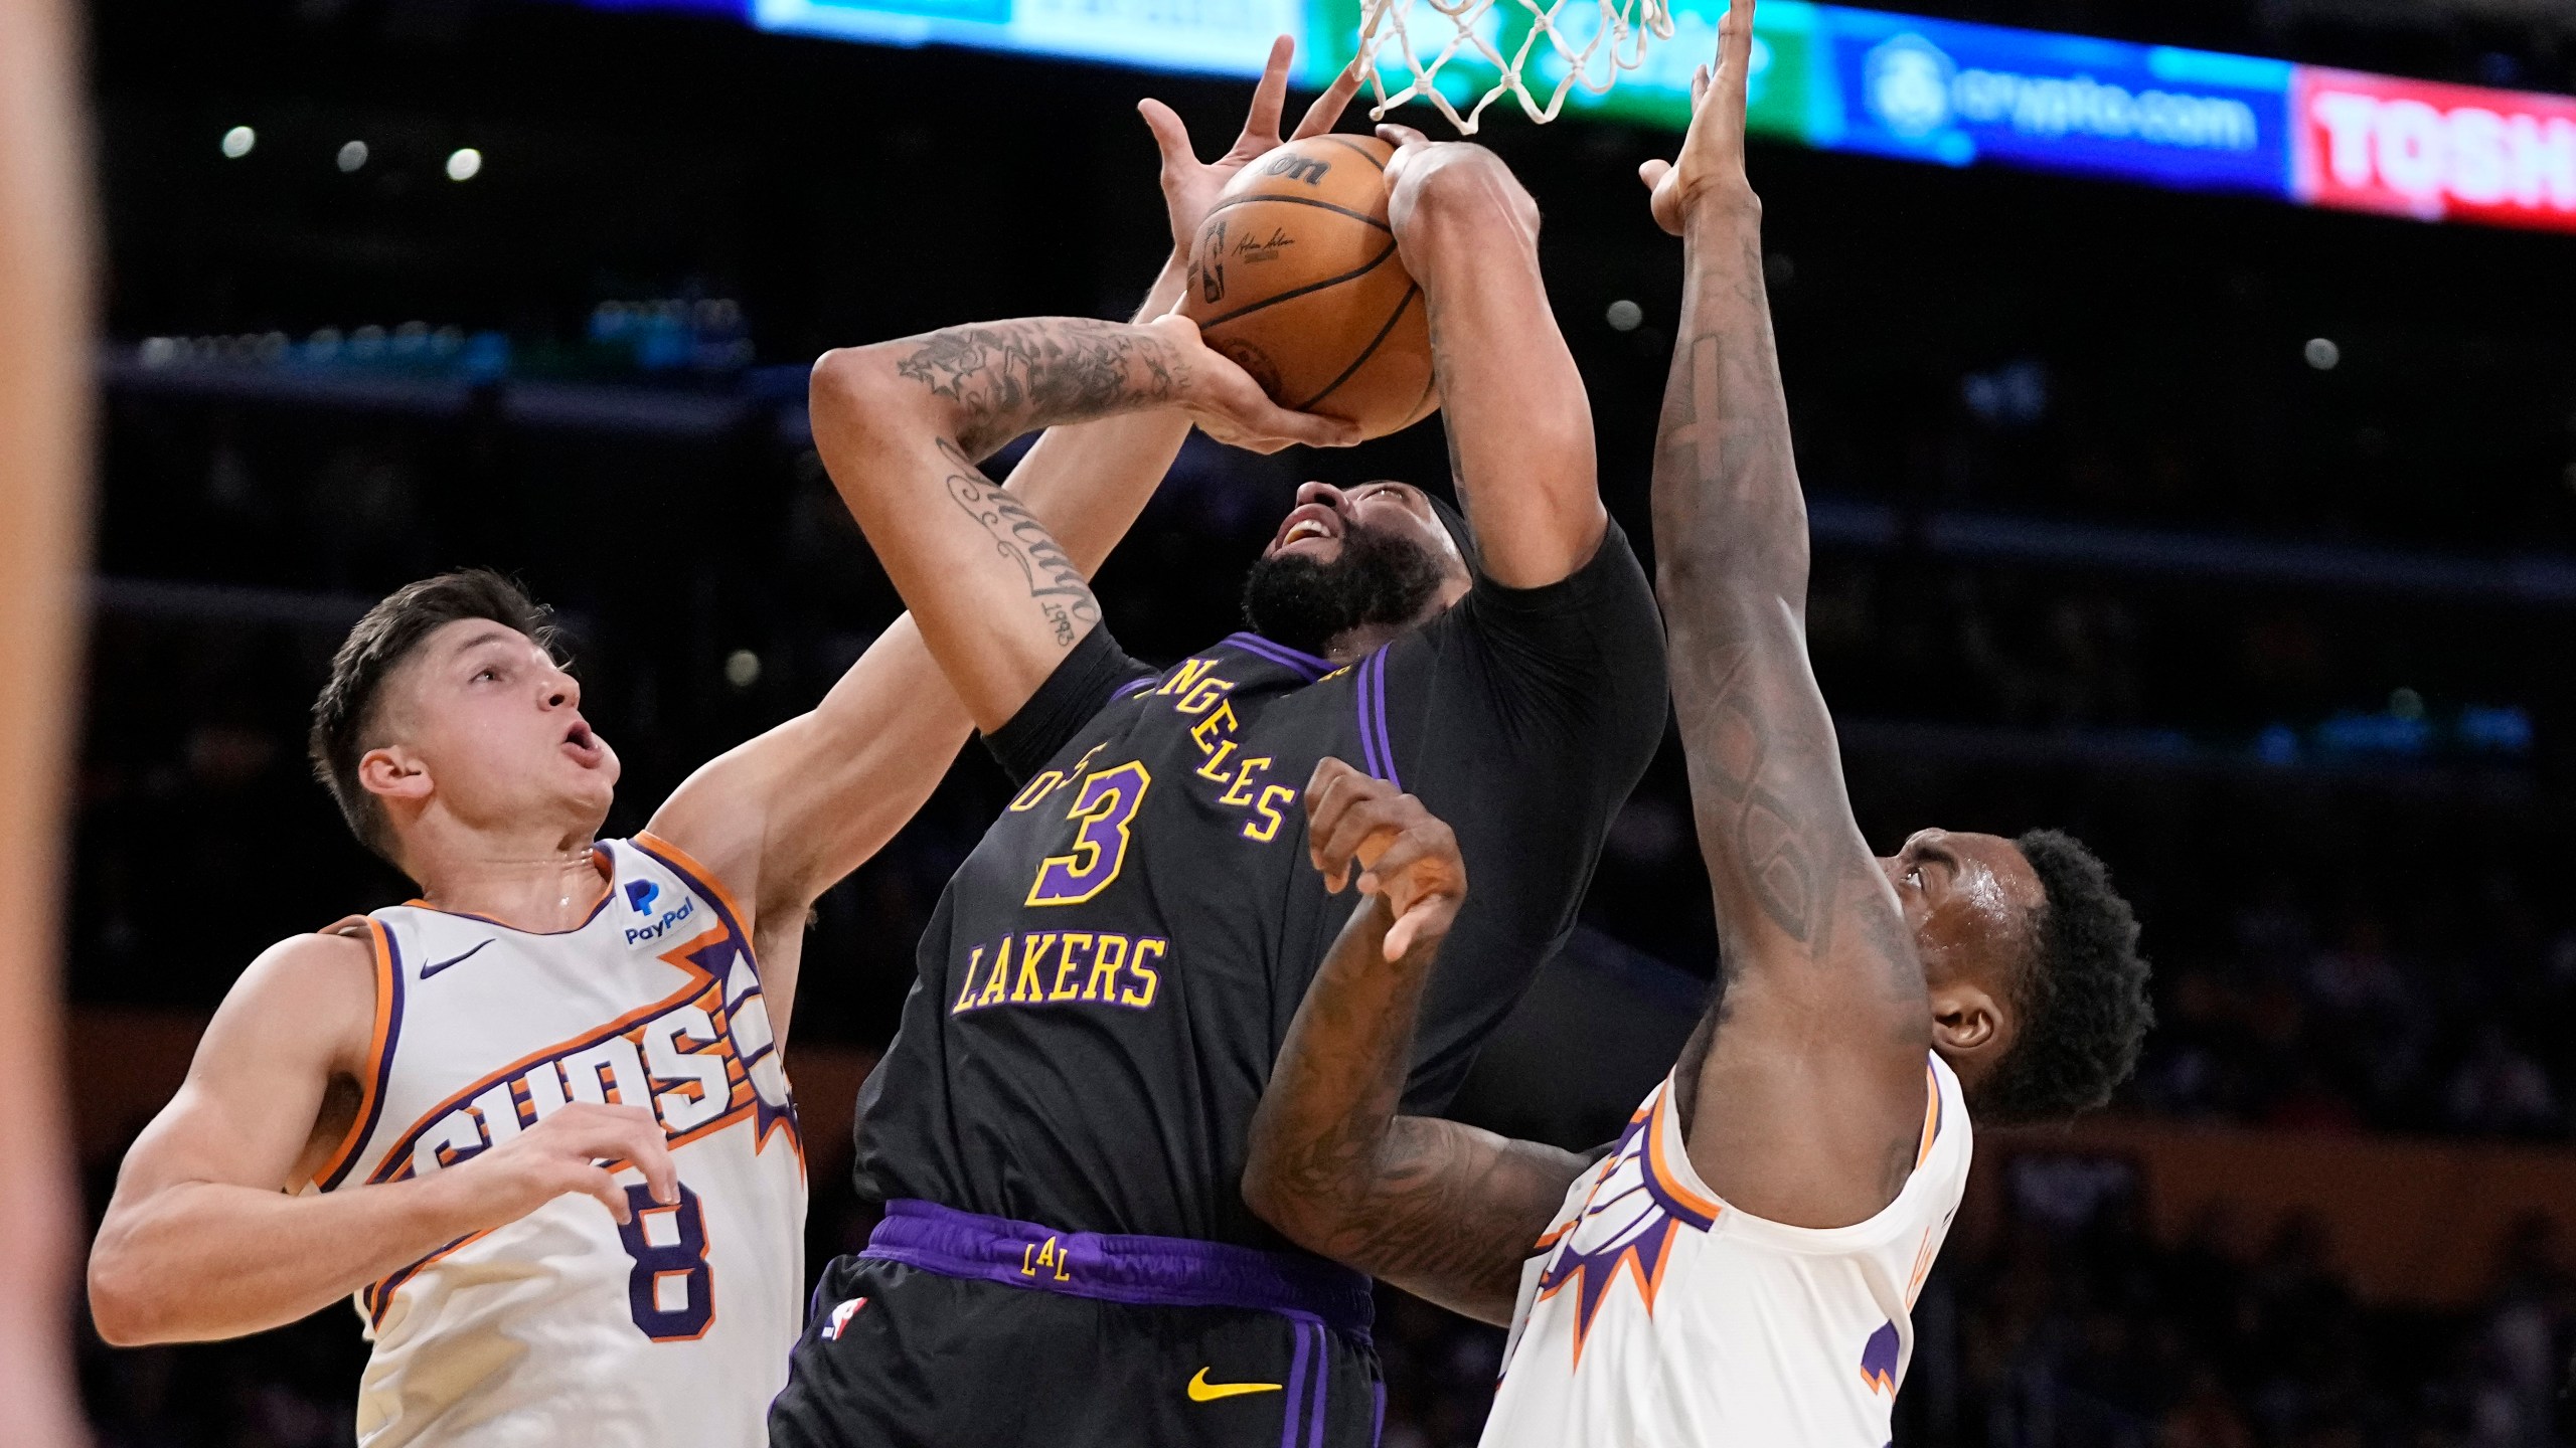
{"label": "white basketball net hanging above the ball", "polygon": [[[1528,10],[1525,21],[1520,10]],[[1517,21],[1512,28],[1525,26],[1517,46],[1504,33],[1504,21]],[[1419,41],[1412,26],[1425,31]],[[1427,100],[1458,126],[1461,137],[1473,137],[1484,108],[1502,95],[1515,95],[1530,121],[1546,124],[1566,103],[1566,90],[1582,85],[1592,95],[1607,93],[1618,85],[1618,72],[1646,62],[1649,36],[1672,39],[1672,0],[1363,0],[1360,67],[1378,95],[1370,119],[1386,119],[1406,100]],[[1401,59],[1412,72],[1394,95],[1386,93],[1381,57]],[[1494,88],[1479,95],[1466,116],[1437,85],[1440,70],[1453,59],[1481,59],[1499,72]],[[1546,106],[1525,80],[1533,62],[1540,70],[1564,67]],[[1605,62],[1597,75],[1595,62]]]}

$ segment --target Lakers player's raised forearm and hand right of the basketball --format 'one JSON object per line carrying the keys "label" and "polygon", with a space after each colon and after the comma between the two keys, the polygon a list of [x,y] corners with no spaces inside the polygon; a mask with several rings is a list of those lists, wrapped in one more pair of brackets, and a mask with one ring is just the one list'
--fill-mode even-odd
{"label": "Lakers player's raised forearm and hand right of the basketball", "polygon": [[1538,204],[1494,152],[1378,126],[1386,216],[1422,283],[1450,474],[1484,572],[1556,582],[1592,559],[1610,513],[1592,459],[1592,399],[1538,276]]}

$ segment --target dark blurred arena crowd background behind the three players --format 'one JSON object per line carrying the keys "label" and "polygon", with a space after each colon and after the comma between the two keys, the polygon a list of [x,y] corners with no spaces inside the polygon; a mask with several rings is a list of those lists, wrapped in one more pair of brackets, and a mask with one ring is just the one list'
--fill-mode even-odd
{"label": "dark blurred arena crowd background behind the three players", "polygon": [[[2576,93],[2558,0],[1909,8],[2522,93],[2543,121]],[[811,448],[811,358],[1123,317],[1167,250],[1133,100],[1213,152],[1249,82],[536,0],[93,0],[88,26],[106,322],[67,982],[95,1221],[242,966],[410,894],[304,768],[371,600],[492,564],[556,603],[626,760],[611,832],[639,827],[899,611]],[[1546,211],[1602,487],[1649,549],[1680,247],[1636,165],[1674,131],[1499,106],[1479,139]],[[1752,157],[1852,799],[1883,850],[1919,822],[2084,835],[2159,1007],[2112,1110],[1978,1141],[1899,1443],[2563,1443],[2576,178],[2568,214],[2543,191],[2494,227],[1865,152]],[[1437,420],[1332,456],[1195,438],[1100,575],[1108,621],[1172,660],[1234,624],[1298,479],[1445,472]],[[788,1056],[811,1265],[871,1229],[850,1098],[1002,799],[969,750],[814,917]],[[1605,1139],[1713,961],[1667,742],[1458,1113]],[[1383,1314],[1386,1443],[1473,1443],[1499,1332],[1394,1291]],[[80,1353],[100,1445],[350,1440],[348,1306]]]}

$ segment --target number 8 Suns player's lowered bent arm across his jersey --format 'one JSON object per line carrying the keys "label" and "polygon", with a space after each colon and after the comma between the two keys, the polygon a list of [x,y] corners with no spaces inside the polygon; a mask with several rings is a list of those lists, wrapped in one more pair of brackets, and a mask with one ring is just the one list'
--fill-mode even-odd
{"label": "number 8 Suns player's lowered bent arm across his jersey", "polygon": [[90,1317],[116,1345],[240,1337],[307,1317],[459,1237],[587,1193],[626,1221],[636,1165],[677,1201],[662,1126],[569,1103],[471,1162],[296,1196],[355,1123],[376,995],[363,940],[299,935],[224,997],[188,1080],[116,1172],[90,1247]]}

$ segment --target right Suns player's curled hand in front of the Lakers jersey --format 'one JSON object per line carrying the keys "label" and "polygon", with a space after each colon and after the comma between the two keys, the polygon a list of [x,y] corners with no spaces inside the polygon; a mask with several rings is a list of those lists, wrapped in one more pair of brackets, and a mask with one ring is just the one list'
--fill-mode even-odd
{"label": "right Suns player's curled hand in front of the Lakers jersey", "polygon": [[1396,917],[1388,961],[1440,943],[1466,904],[1458,835],[1419,799],[1342,760],[1319,760],[1306,781],[1306,855],[1324,871],[1324,889],[1342,894],[1358,866],[1360,894],[1386,897]]}

